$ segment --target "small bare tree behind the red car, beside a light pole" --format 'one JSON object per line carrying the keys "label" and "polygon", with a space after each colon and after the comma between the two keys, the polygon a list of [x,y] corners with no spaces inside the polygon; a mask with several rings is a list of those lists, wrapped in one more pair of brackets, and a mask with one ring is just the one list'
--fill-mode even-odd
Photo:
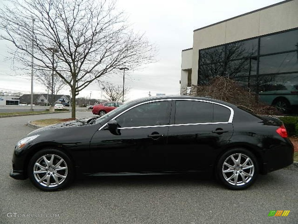
{"label": "small bare tree behind the red car, beside a light pole", "polygon": [[[106,96],[105,99],[110,101],[119,101],[122,99],[123,96],[123,86],[122,85],[114,85],[111,82],[100,82],[100,85],[102,86],[102,90],[105,93]],[[124,87],[124,99],[125,95],[129,93],[130,88]]]}

